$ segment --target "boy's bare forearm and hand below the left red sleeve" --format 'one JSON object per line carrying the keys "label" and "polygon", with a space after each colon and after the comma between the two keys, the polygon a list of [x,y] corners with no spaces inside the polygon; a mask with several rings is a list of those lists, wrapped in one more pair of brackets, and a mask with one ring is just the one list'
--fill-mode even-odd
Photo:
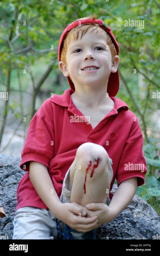
{"label": "boy's bare forearm and hand below the left red sleeve", "polygon": [[[33,184],[37,194],[51,211],[51,213],[60,220],[70,219],[70,222],[75,222],[77,225],[77,220],[79,220],[78,214],[81,213],[82,216],[86,214],[83,212],[83,208],[77,207],[70,203],[67,206],[62,204],[59,200],[56,190],[54,189],[52,180],[49,176],[47,166],[41,164],[39,162],[30,161],[29,165],[29,178],[31,183]],[[73,216],[73,213],[77,215],[77,217]],[[69,216],[70,215],[70,216]],[[87,218],[84,223],[87,224],[87,227],[95,226],[95,221],[97,217]],[[83,223],[84,219],[81,217],[81,222]],[[80,223],[79,223],[80,224]],[[77,226],[75,226],[77,227]]]}

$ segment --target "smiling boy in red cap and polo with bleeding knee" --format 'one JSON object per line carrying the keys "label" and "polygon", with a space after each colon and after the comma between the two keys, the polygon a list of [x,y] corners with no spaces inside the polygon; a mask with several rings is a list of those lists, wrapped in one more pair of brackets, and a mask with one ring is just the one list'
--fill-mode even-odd
{"label": "smiling boy in red cap and polo with bleeding knee", "polygon": [[96,229],[116,218],[145,183],[138,119],[114,97],[118,51],[110,27],[95,16],[64,29],[59,69],[71,89],[47,99],[30,122],[13,239],[96,239]]}

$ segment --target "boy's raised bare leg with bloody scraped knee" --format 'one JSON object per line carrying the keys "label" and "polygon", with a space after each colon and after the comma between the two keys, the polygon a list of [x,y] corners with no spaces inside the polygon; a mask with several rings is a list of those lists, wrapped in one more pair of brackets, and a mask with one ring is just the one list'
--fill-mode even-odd
{"label": "boy's raised bare leg with bloody scraped knee", "polygon": [[76,152],[68,188],[71,203],[104,203],[110,189],[109,156],[101,145],[86,142]]}

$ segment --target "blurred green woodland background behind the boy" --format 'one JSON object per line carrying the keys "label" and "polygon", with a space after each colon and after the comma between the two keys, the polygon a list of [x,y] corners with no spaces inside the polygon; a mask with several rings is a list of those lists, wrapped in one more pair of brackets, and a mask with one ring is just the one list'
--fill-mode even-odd
{"label": "blurred green woodland background behind the boy", "polygon": [[0,154],[21,157],[33,115],[53,93],[70,88],[58,68],[61,33],[96,14],[120,47],[116,97],[137,115],[143,133],[148,172],[136,194],[160,213],[159,9],[158,0],[0,1]]}

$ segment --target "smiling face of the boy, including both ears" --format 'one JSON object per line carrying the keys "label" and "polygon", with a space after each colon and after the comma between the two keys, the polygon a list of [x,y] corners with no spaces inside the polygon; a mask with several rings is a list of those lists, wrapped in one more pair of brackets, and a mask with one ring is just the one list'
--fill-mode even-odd
{"label": "smiling face of the boy, including both ears", "polygon": [[[111,51],[107,47],[106,32],[99,33],[87,32],[80,39],[71,39],[66,51],[66,66],[60,61],[59,69],[64,76],[70,75],[73,83],[76,86],[98,86],[108,82],[111,72],[116,72],[119,64],[119,57],[116,55],[113,63],[111,62]],[[83,71],[86,66],[96,66],[98,69],[94,71]]]}

